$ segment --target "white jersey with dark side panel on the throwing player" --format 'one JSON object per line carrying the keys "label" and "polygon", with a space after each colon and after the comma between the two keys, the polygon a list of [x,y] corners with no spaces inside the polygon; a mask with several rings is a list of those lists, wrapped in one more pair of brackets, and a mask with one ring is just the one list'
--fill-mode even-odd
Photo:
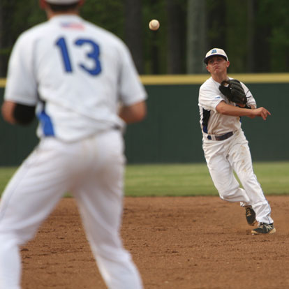
{"label": "white jersey with dark side panel on the throwing player", "polygon": [[[242,83],[242,82],[241,82]],[[238,131],[241,128],[241,121],[239,117],[232,117],[230,115],[220,114],[216,111],[216,106],[225,101],[230,103],[218,87],[220,83],[210,77],[200,87],[199,94],[199,108],[200,108],[200,125],[204,139],[207,135],[224,135],[230,131]],[[242,83],[242,87],[248,98],[248,105],[256,105],[248,87]],[[233,104],[233,103],[230,103]],[[235,104],[234,104],[235,105]]]}

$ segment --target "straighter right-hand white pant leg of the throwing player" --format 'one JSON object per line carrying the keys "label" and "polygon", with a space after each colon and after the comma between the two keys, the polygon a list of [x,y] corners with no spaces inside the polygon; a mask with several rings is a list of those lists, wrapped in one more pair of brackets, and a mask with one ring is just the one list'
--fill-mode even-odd
{"label": "straighter right-hand white pant leg of the throwing player", "polygon": [[273,223],[270,216],[271,207],[253,172],[248,141],[242,132],[239,133],[239,135],[236,135],[236,137],[237,138],[235,138],[235,142],[230,149],[228,160],[237,173],[237,176],[250,199],[250,205],[255,212],[256,220],[262,223]]}

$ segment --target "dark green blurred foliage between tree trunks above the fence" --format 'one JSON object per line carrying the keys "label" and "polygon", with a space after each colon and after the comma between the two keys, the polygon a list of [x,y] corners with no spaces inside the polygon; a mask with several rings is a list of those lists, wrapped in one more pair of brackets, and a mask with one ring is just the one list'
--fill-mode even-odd
{"label": "dark green blurred foliage between tree trunks above the fence", "polygon": [[[188,0],[142,0],[142,19],[138,21],[143,27],[145,74],[168,73],[168,56],[172,54],[168,45],[168,21],[174,21],[168,19],[168,1],[179,5],[183,16],[180,33],[186,31],[186,19],[190,17],[186,15]],[[207,50],[212,47],[225,49],[231,62],[230,73],[288,72],[288,0],[204,1],[207,7]],[[124,7],[125,0],[87,0],[81,15],[125,40]],[[161,28],[156,32],[148,29],[149,20],[154,18],[161,22]],[[6,76],[8,57],[17,36],[45,20],[38,0],[0,1],[0,77]],[[186,33],[181,36],[184,38],[179,43],[184,51],[181,66],[186,73]]]}

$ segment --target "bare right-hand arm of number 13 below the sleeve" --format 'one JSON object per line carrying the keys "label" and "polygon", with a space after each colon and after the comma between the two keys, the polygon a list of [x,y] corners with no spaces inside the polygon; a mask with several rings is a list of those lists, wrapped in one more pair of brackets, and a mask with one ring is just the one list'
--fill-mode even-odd
{"label": "bare right-hand arm of number 13 below the sleeve", "polygon": [[146,115],[147,105],[144,101],[133,105],[123,106],[119,111],[119,117],[121,117],[126,124],[141,121]]}

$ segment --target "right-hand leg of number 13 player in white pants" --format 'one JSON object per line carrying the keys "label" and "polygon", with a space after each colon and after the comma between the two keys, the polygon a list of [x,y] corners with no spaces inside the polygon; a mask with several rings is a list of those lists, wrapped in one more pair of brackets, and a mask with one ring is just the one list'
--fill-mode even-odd
{"label": "right-hand leg of number 13 player in white pants", "polygon": [[141,289],[138,269],[119,236],[124,179],[122,142],[117,131],[96,137],[95,144],[91,141],[91,169],[73,195],[98,269],[108,288]]}

